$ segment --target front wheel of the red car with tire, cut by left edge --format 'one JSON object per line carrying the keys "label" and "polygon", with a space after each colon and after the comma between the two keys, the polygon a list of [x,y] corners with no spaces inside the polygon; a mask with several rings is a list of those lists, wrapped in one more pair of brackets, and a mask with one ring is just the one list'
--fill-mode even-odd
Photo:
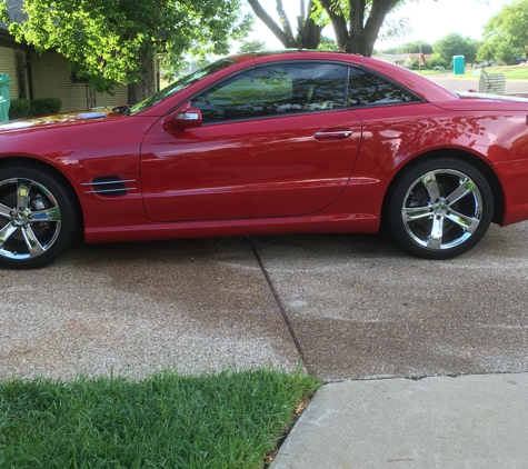
{"label": "front wheel of the red car with tire, cut by left edge", "polygon": [[76,201],[49,169],[0,167],[0,267],[32,269],[59,257],[77,234]]}

